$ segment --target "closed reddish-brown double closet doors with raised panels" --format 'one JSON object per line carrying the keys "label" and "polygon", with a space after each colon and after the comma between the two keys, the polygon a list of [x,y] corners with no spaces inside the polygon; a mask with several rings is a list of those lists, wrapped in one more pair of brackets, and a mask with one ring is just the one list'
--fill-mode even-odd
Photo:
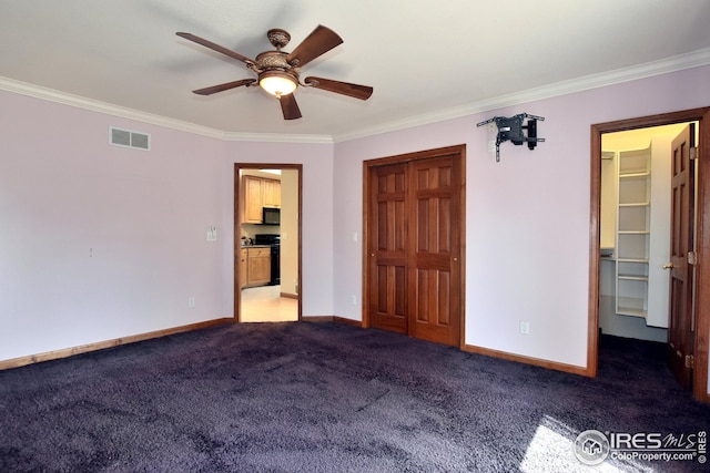
{"label": "closed reddish-brown double closet doors with raised panels", "polygon": [[368,175],[369,326],[460,345],[463,151],[426,152]]}

